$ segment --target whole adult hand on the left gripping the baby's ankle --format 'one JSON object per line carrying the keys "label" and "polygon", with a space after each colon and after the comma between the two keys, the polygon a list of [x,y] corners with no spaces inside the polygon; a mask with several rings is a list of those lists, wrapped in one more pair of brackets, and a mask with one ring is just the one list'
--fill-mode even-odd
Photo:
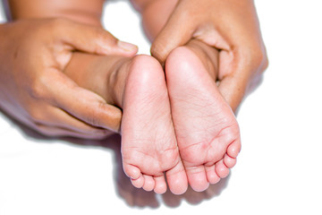
{"label": "whole adult hand on the left gripping the baby's ankle", "polygon": [[[0,25],[0,107],[50,136],[103,138],[120,127],[122,112],[62,71],[72,52],[133,56],[137,47],[109,32],[64,19]],[[93,74],[95,75],[95,74]]]}

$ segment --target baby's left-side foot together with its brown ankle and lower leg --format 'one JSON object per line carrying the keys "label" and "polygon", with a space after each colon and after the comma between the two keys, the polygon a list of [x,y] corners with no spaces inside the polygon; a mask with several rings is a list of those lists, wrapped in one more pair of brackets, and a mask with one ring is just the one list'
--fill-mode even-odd
{"label": "baby's left-side foot together with its brown ankle and lower leg", "polygon": [[123,169],[134,186],[165,193],[166,176],[173,193],[186,191],[187,176],[177,148],[165,74],[156,59],[74,54],[65,73],[123,108]]}

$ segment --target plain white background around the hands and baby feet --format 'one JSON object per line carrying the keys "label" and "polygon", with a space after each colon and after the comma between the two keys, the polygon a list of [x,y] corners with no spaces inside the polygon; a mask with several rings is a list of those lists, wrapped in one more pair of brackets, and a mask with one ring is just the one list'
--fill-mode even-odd
{"label": "plain white background around the hands and baby feet", "polygon": [[[204,193],[146,193],[124,177],[117,138],[50,140],[0,115],[0,215],[322,214],[322,4],[256,4],[270,64],[239,112],[242,152],[227,179]],[[107,4],[104,22],[148,54],[127,2]]]}

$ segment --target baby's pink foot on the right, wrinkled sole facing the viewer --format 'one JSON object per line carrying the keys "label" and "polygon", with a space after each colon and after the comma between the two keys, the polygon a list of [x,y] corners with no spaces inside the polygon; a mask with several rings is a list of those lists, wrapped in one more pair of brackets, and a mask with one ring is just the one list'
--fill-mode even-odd
{"label": "baby's pink foot on the right, wrinkled sole facing the viewer", "polygon": [[[178,47],[165,63],[167,89],[183,165],[195,191],[228,176],[241,149],[240,131],[208,73],[205,51]],[[203,60],[203,61],[201,61]]]}

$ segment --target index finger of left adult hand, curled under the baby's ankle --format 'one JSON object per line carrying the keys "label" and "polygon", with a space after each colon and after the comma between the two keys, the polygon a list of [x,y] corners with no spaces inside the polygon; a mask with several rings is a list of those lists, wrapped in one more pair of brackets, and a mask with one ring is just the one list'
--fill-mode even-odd
{"label": "index finger of left adult hand, curled under the baby's ankle", "polygon": [[106,100],[96,93],[80,88],[59,70],[48,70],[47,74],[39,83],[36,97],[64,109],[86,124],[119,132],[121,109],[106,104]]}

